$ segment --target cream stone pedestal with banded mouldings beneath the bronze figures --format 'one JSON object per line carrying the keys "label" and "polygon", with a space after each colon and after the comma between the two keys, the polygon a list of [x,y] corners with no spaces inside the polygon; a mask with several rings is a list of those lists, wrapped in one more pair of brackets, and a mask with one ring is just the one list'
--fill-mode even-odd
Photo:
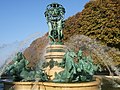
{"label": "cream stone pedestal with banded mouldings beneath the bronze figures", "polygon": [[[63,56],[65,54],[65,46],[64,45],[49,45],[46,48],[46,55],[45,59],[47,62],[50,60],[57,61],[60,63],[63,59]],[[63,69],[58,66],[54,66],[52,69],[48,66],[45,71],[46,73],[51,76],[50,79],[52,80],[55,77],[55,72],[60,72]]]}

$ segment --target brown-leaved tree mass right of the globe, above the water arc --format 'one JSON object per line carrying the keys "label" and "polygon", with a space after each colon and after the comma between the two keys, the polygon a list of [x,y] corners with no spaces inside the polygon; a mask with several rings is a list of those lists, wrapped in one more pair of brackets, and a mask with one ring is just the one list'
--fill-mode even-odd
{"label": "brown-leaved tree mass right of the globe, above the water arc", "polygon": [[96,0],[65,21],[64,41],[76,34],[84,34],[102,44],[120,50],[120,2]]}

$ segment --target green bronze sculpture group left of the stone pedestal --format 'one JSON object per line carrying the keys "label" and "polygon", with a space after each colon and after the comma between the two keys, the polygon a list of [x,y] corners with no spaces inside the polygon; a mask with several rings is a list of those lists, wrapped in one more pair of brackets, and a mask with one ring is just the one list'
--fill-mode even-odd
{"label": "green bronze sculpture group left of the stone pedestal", "polygon": [[5,73],[10,75],[14,81],[48,81],[48,76],[46,73],[40,69],[32,70],[27,67],[29,61],[25,59],[21,52],[18,52],[16,57],[13,59],[12,64],[10,64]]}

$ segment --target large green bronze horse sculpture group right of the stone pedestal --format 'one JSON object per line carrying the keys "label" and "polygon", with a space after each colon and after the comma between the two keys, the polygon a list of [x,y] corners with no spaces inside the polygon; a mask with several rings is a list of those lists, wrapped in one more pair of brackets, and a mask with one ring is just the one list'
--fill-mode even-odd
{"label": "large green bronze horse sculpture group right of the stone pedestal", "polygon": [[63,71],[55,73],[53,82],[85,82],[92,81],[94,72],[99,65],[94,65],[91,56],[83,56],[82,50],[77,53],[67,51],[64,59],[59,63]]}

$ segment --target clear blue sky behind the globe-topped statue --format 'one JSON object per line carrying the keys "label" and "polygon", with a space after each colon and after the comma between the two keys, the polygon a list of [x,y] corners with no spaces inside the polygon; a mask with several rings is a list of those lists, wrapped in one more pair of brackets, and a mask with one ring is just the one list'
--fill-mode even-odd
{"label": "clear blue sky behind the globe-topped statue", "polygon": [[67,19],[82,11],[89,0],[0,0],[0,45],[48,32],[44,12],[53,2],[63,5]]}

